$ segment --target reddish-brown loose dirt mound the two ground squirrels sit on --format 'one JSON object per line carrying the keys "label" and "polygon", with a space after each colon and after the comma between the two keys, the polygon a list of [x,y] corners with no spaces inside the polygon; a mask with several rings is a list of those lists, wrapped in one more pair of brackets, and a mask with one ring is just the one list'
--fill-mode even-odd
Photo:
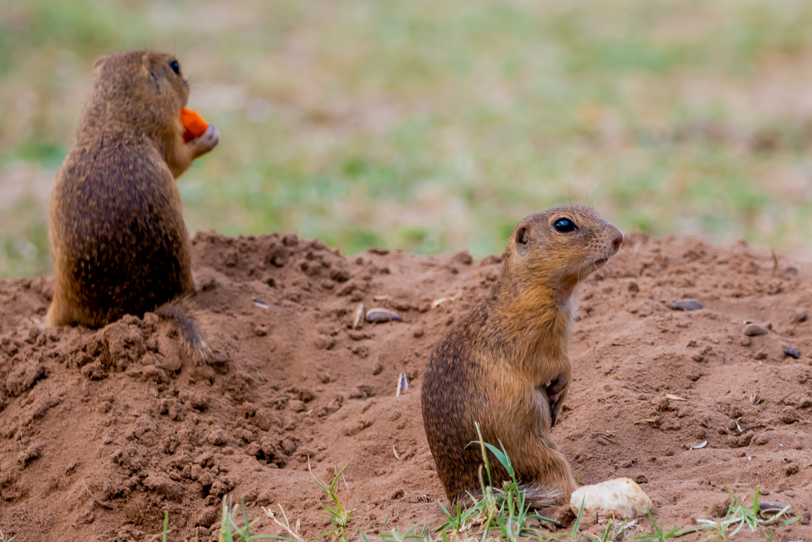
{"label": "reddish-brown loose dirt mound the two ground squirrels sit on", "polygon": [[[348,258],[293,234],[199,233],[193,266],[215,351],[205,367],[172,320],[41,329],[52,279],[0,281],[0,529],[153,540],[168,511],[171,540],[216,540],[231,494],[257,531],[282,534],[261,510],[282,505],[314,536],[328,530],[326,498],[308,462],[322,479],[349,463],[356,533],[387,516],[441,523],[421,375],[501,258]],[[667,526],[723,513],[724,484],[761,485],[765,501],[806,514],[776,540],[812,536],[812,322],[797,312],[812,304],[810,277],[744,244],[628,239],[577,295],[574,381],[553,434],[581,483],[629,476]],[[674,310],[682,298],[704,308]],[[350,329],[359,303],[403,321]],[[745,336],[743,320],[767,334]],[[395,397],[401,372],[411,386]]]}

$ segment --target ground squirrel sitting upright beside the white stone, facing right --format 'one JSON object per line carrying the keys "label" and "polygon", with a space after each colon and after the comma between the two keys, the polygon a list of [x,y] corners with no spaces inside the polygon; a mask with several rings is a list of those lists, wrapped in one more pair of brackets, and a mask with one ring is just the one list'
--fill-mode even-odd
{"label": "ground squirrel sitting upright beside the white stone, facing right", "polygon": [[[477,441],[477,422],[484,441],[504,445],[535,504],[569,498],[575,480],[550,431],[572,375],[572,295],[623,239],[589,207],[530,215],[513,230],[490,295],[434,346],[423,379],[423,421],[451,502],[467,501],[481,487],[482,452],[466,447]],[[490,467],[495,484],[508,480],[498,462]]]}

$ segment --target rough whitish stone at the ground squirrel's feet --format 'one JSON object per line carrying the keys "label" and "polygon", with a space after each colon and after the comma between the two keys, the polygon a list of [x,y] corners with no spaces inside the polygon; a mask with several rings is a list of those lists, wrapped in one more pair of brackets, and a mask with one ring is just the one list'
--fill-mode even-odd
{"label": "rough whitish stone at the ground squirrel's feet", "polygon": [[584,505],[584,516],[614,516],[633,519],[645,515],[653,506],[651,499],[634,480],[615,478],[600,484],[585,485],[572,492],[569,508],[573,514]]}

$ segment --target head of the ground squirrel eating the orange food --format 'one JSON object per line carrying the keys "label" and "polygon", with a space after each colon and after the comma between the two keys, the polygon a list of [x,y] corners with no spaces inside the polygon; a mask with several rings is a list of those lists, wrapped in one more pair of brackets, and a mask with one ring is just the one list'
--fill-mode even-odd
{"label": "head of the ground squirrel eating the orange food", "polygon": [[[182,129],[179,115],[189,85],[174,54],[121,51],[98,58],[93,75],[89,106],[104,114],[107,122],[137,123],[158,132]],[[102,104],[103,109],[93,107]]]}

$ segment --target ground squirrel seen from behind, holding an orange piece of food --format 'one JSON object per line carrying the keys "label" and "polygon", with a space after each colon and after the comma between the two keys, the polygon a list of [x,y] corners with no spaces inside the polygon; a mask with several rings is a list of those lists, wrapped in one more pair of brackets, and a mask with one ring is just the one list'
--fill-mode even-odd
{"label": "ground squirrel seen from behind, holding an orange piece of food", "polygon": [[220,139],[184,143],[189,88],[178,59],[123,51],[93,65],[93,89],[50,199],[54,299],[47,325],[101,327],[156,311],[178,321],[193,357],[208,347],[191,316],[191,243],[175,178]]}

